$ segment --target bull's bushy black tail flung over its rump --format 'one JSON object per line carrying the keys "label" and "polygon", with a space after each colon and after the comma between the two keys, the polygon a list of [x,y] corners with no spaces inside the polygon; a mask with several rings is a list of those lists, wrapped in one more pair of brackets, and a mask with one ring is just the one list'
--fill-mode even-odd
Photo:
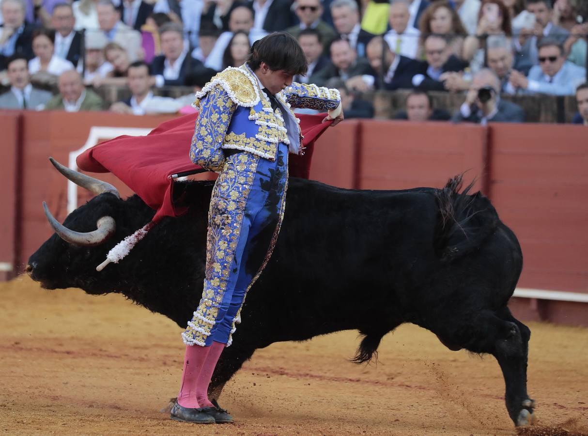
{"label": "bull's bushy black tail flung over its rump", "polygon": [[439,213],[435,229],[435,251],[442,262],[450,262],[473,251],[496,229],[496,209],[480,192],[470,195],[475,181],[460,193],[463,174],[447,181],[436,192]]}

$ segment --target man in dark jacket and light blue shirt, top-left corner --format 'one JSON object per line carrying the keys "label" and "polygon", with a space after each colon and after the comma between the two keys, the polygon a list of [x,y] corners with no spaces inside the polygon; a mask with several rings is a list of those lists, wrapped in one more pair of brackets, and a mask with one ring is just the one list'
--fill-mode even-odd
{"label": "man in dark jacket and light blue shirt, top-left corner", "polygon": [[2,71],[6,69],[6,60],[12,55],[33,58],[34,26],[25,24],[23,0],[2,0],[0,10],[4,17],[4,23],[0,26],[0,71]]}

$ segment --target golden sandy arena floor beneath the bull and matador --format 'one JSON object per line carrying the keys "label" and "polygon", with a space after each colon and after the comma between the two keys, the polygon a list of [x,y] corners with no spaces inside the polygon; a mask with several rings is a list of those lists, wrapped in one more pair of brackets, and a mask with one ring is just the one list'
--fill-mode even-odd
{"label": "golden sandy arena floor beneath the bull and matador", "polygon": [[[225,388],[235,424],[162,412],[182,371],[179,329],[118,295],[0,284],[4,434],[516,434],[491,356],[452,352],[413,325],[387,335],[377,365],[348,361],[357,333],[259,350]],[[540,427],[588,434],[588,329],[530,324],[529,392]]]}

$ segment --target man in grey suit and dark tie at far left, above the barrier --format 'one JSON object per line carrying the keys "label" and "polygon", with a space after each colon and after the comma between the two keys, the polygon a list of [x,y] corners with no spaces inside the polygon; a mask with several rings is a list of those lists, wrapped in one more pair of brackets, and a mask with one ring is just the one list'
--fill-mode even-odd
{"label": "man in grey suit and dark tie at far left, above the barrier", "polygon": [[43,109],[51,99],[51,92],[33,88],[25,56],[13,55],[7,64],[6,75],[11,87],[0,95],[0,109]]}

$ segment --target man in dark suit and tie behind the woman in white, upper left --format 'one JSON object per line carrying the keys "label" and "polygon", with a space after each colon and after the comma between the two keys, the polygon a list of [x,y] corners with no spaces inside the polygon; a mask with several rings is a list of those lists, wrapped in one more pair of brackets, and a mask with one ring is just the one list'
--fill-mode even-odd
{"label": "man in dark suit and tie behind the woman in white, upper left", "polygon": [[51,25],[55,29],[55,55],[78,66],[82,53],[82,36],[74,30],[74,9],[68,3],[53,8]]}

